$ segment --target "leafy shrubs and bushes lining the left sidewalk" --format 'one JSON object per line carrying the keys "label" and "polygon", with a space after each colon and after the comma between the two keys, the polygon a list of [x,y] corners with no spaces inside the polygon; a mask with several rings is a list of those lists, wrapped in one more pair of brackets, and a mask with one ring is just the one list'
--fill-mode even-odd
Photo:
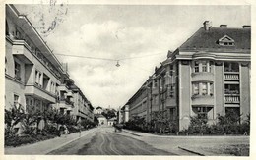
{"label": "leafy shrubs and bushes lining the left sidewalk", "polygon": [[79,123],[71,115],[49,108],[43,112],[35,107],[22,105],[5,109],[5,146],[20,146],[60,136],[60,126],[66,126],[69,133],[96,127],[95,122],[83,119]]}

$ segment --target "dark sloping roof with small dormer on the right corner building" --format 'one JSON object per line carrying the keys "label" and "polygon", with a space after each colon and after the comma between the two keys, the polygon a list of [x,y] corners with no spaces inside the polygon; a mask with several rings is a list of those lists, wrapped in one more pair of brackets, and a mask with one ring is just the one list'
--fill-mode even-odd
{"label": "dark sloping roof with small dormer on the right corner building", "polygon": [[[222,46],[218,40],[225,35],[234,40],[233,46]],[[209,50],[209,51],[248,51],[251,49],[251,29],[250,28],[230,28],[230,27],[211,27],[205,30],[201,27],[180,47],[184,50]]]}

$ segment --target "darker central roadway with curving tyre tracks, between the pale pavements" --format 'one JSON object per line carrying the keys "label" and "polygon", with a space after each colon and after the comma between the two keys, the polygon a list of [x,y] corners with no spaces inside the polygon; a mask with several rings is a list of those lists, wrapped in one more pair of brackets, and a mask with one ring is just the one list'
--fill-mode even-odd
{"label": "darker central roadway with curving tyre tracks, between the pale pavements", "polygon": [[156,149],[151,145],[127,136],[114,133],[113,128],[99,128],[94,133],[73,141],[48,154],[54,155],[175,155]]}

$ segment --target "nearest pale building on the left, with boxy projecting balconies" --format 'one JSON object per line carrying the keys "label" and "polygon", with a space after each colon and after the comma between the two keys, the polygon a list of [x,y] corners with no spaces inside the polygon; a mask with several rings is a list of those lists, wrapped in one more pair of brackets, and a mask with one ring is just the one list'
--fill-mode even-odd
{"label": "nearest pale building on the left, with boxy projecting balconies", "polygon": [[47,109],[56,103],[62,73],[60,62],[26,16],[6,5],[5,107]]}

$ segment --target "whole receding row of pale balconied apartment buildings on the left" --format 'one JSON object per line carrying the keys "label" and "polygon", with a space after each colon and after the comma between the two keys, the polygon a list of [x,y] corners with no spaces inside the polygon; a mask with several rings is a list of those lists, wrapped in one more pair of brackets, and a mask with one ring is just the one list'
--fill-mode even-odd
{"label": "whole receding row of pale balconied apartment buildings on the left", "polygon": [[73,87],[67,69],[26,16],[6,5],[5,108],[19,105],[27,112],[43,112],[54,107],[75,117],[76,110],[83,110],[94,121],[93,106]]}

